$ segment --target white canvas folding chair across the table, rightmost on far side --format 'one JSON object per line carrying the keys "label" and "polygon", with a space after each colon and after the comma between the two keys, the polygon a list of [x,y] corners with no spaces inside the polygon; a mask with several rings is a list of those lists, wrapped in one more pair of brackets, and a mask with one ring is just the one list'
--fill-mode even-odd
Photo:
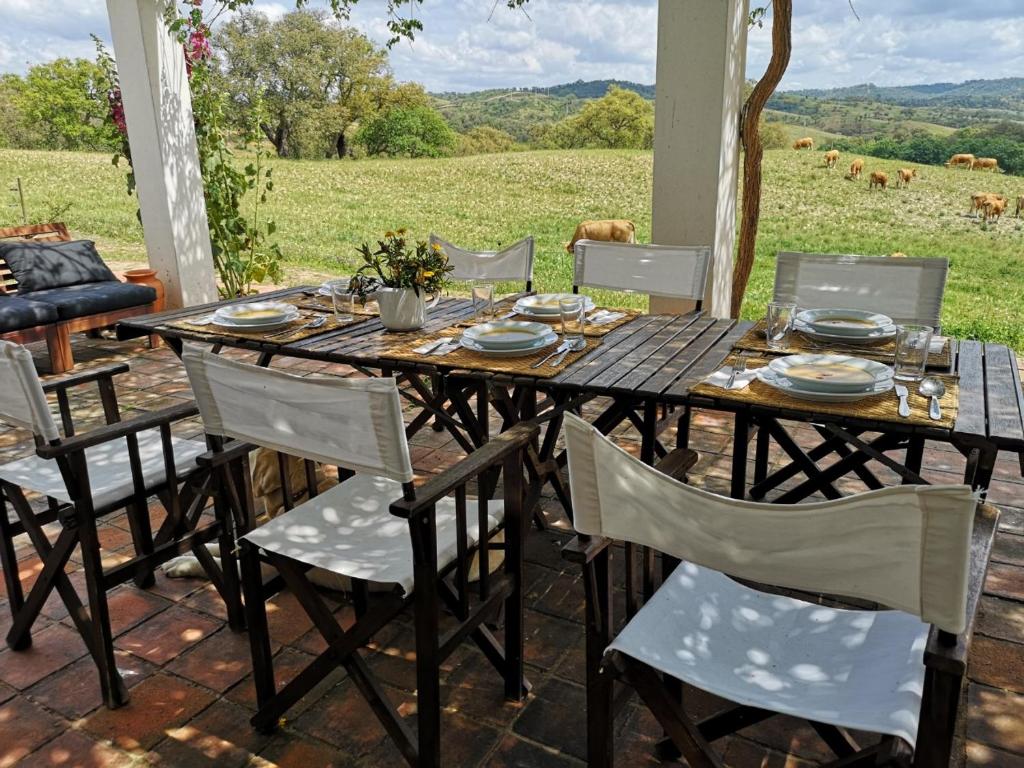
{"label": "white canvas folding chair across the table, rightmost on far side", "polygon": [[[897,323],[931,326],[940,330],[942,298],[945,292],[949,262],[939,258],[905,258],[902,256],[845,256],[811,253],[778,254],[775,269],[775,301],[797,304],[805,309],[842,307],[882,312]],[[826,427],[816,425],[822,442],[807,453],[812,463],[838,453],[842,459],[854,461],[852,451],[842,437]],[[782,469],[768,474],[769,441],[771,433],[781,440],[787,453],[793,444],[785,438],[784,430],[775,421],[758,424],[757,446],[754,462],[754,484],[751,496],[763,499],[768,492],[799,474],[804,457]],[[851,431],[854,438],[861,432]],[[906,440],[906,458],[902,467],[912,474],[921,471],[924,440],[910,437]],[[897,469],[896,466],[893,466]],[[868,489],[883,483],[863,462],[853,465],[853,473]],[[899,471],[899,469],[897,469]],[[812,473],[813,475],[813,473]],[[818,489],[816,476],[790,492],[784,501],[799,500],[805,492]],[[821,485],[830,498],[839,496],[830,483]]]}

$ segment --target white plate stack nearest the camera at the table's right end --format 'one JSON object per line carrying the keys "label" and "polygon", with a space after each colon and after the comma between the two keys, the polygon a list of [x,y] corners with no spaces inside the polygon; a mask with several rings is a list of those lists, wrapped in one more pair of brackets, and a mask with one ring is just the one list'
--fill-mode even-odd
{"label": "white plate stack nearest the camera at the table's right end", "polygon": [[757,375],[785,394],[817,402],[853,402],[893,388],[892,368],[847,354],[776,357]]}

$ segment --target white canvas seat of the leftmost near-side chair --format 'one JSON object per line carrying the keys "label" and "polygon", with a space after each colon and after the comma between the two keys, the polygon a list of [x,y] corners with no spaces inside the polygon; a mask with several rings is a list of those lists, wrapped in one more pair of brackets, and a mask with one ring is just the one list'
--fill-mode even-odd
{"label": "white canvas seat of the leftmost near-side chair", "polygon": [[[196,469],[196,457],[205,454],[206,444],[171,436],[174,449],[174,467],[179,477]],[[164,445],[159,429],[138,433],[138,453],[142,463],[142,477],[147,488],[164,482]],[[124,502],[134,493],[131,467],[128,462],[128,441],[111,440],[85,450],[89,468],[89,485],[92,503],[96,509]],[[0,477],[25,490],[34,490],[52,497],[58,502],[70,503],[68,488],[57,463],[33,455],[0,467]]]}

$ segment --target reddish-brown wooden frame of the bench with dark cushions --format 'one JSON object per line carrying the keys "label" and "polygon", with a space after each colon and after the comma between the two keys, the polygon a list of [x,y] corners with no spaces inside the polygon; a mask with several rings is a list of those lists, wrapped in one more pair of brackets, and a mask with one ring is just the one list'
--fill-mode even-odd
{"label": "reddish-brown wooden frame of the bench with dark cushions", "polygon": [[[0,227],[0,241],[28,240],[41,243],[70,242],[72,240],[68,227],[60,223],[30,224],[28,226]],[[0,258],[0,301],[4,295],[17,294],[17,281],[7,263]],[[22,298],[32,300],[33,294],[20,294]],[[98,331],[109,328],[118,322],[139,314],[148,314],[156,310],[155,302],[138,304],[112,311],[97,312],[69,319],[57,319],[41,325],[29,325],[12,331],[0,333],[0,339],[28,344],[34,341],[46,341],[49,353],[51,372],[62,374],[75,367],[75,358],[71,348],[71,335],[88,331]],[[150,337],[151,346],[159,343],[159,338]]]}

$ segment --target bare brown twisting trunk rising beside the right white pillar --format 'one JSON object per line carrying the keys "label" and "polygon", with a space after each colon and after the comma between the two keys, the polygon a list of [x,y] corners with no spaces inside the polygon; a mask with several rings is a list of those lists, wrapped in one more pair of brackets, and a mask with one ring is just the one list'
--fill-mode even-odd
{"label": "bare brown twisting trunk rising beside the right white pillar", "polygon": [[754,86],[743,104],[739,134],[743,144],[743,197],[739,223],[739,250],[732,269],[731,314],[739,316],[739,308],[746,293],[746,284],[754,268],[755,246],[758,239],[758,221],[761,218],[761,113],[775,92],[793,50],[793,0],[774,0],[772,3],[771,59],[765,74]]}

